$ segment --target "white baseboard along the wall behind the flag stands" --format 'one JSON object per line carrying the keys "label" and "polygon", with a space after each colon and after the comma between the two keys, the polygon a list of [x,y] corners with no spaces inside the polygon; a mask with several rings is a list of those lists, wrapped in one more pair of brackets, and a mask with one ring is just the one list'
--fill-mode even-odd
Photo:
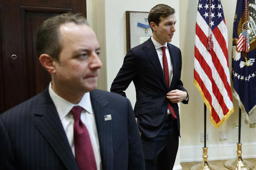
{"label": "white baseboard along the wall behind the flag stands", "polygon": [[[202,146],[180,146],[180,163],[202,161]],[[207,145],[208,161],[230,160],[236,158],[236,144]],[[242,158],[256,158],[256,142],[243,143]],[[174,170],[174,169],[173,169]]]}

